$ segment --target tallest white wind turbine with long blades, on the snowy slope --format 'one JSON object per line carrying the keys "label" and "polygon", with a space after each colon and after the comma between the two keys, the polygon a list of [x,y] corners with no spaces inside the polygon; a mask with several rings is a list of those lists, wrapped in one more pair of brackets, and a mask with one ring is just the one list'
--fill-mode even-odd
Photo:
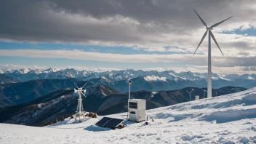
{"label": "tallest white wind turbine with long blades, on the snowy slope", "polygon": [[[196,12],[195,9],[193,9],[193,11]],[[199,14],[197,14],[196,12],[196,15],[199,16]],[[233,17],[233,16],[232,16]],[[228,17],[227,19],[225,20],[228,20],[230,19],[231,17]],[[208,40],[208,78],[207,78],[207,97],[210,98],[212,97],[212,60],[211,60],[211,37],[213,39],[213,41],[215,41],[215,44],[217,45],[217,47],[220,49],[219,47],[219,44],[217,44],[217,41],[215,39],[215,36],[213,36],[213,33],[212,33],[212,29],[214,27],[216,27],[217,25],[220,25],[220,23],[223,23],[225,20],[223,21],[220,21],[219,23],[215,23],[214,25],[210,26],[210,27],[207,27],[207,23],[204,22],[203,19],[201,19],[201,17],[199,16],[199,19],[201,20],[201,23],[203,23],[203,25],[207,28],[207,31],[204,33],[204,36],[202,37],[200,43],[199,43],[199,46],[201,44],[202,41],[204,41],[204,38],[205,36],[207,36],[207,33],[209,31],[209,40]],[[196,50],[199,48],[199,46],[196,48]],[[221,51],[220,49],[220,52],[223,54],[223,52]],[[195,55],[196,52],[193,53],[193,55]],[[223,55],[224,56],[224,55]]]}

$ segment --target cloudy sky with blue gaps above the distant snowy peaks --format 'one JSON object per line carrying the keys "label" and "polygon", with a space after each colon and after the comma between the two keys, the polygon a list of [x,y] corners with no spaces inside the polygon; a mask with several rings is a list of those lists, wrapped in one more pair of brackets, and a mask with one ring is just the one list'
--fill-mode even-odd
{"label": "cloudy sky with blue gaps above the distant snowy peaks", "polygon": [[256,73],[255,0],[4,0],[0,68],[207,72],[207,25],[214,73]]}

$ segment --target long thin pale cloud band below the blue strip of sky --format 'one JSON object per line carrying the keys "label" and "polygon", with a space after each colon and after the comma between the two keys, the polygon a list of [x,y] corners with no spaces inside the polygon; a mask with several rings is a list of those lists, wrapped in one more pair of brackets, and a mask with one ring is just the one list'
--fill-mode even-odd
{"label": "long thin pale cloud band below the blue strip of sky", "polygon": [[[206,65],[207,55],[171,54],[171,55],[122,55],[113,53],[84,52],[77,50],[39,50],[39,49],[0,49],[0,56],[63,58],[71,60],[94,60],[116,63],[180,63],[183,65]],[[212,65],[256,66],[256,57],[212,57]]]}

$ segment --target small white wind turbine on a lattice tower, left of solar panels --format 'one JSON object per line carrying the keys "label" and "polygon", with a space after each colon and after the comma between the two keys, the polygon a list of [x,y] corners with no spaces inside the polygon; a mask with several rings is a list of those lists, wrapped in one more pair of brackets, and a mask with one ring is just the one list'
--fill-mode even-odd
{"label": "small white wind turbine on a lattice tower, left of solar panels", "polygon": [[[87,81],[87,83],[88,83],[88,81]],[[81,122],[80,117],[84,114],[84,108],[83,108],[83,103],[82,103],[83,99],[81,99],[81,95],[84,95],[87,92],[87,89],[83,89],[87,85],[87,83],[84,84],[83,87],[77,87],[76,83],[74,83],[77,87],[77,89],[74,89],[74,92],[79,94],[78,104],[77,104],[77,108],[76,108],[76,119],[79,116],[79,122]],[[84,97],[87,97],[87,96],[84,95]]]}

